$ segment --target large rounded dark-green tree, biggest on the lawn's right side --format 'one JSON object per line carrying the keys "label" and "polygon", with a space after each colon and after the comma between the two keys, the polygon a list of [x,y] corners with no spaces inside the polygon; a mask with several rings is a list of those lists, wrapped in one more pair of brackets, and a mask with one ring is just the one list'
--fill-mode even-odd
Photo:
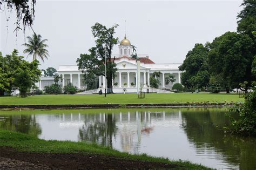
{"label": "large rounded dark-green tree, biggest on the lawn's right side", "polygon": [[221,77],[227,93],[230,88],[237,88],[244,81],[248,81],[245,91],[251,86],[252,45],[248,35],[235,32],[226,32],[211,43],[208,53],[210,72]]}

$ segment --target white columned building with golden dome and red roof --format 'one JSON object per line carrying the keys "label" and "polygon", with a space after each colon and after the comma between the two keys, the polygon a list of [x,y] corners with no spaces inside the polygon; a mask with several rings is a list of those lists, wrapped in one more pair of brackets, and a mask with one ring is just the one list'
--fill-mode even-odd
{"label": "white columned building with golden dome and red roof", "polygon": [[[119,55],[116,56],[115,63],[117,64],[116,77],[113,80],[113,92],[123,93],[124,89],[126,93],[136,93],[137,92],[137,63],[136,60],[131,58],[132,46],[130,40],[124,37],[124,39],[118,45]],[[153,92],[150,88],[150,76],[155,71],[160,71],[161,86],[160,89],[171,89],[172,85],[175,83],[181,83],[180,73],[178,66],[180,63],[174,64],[156,64],[147,55],[138,55],[140,61],[140,85],[143,91]],[[78,89],[86,90],[84,84],[83,73],[78,70],[77,65],[59,65],[58,74],[61,77],[61,84],[63,87],[68,83],[72,83]],[[166,84],[165,78],[173,74],[175,76],[176,82]],[[38,86],[39,89],[44,89],[44,86],[51,85],[53,83],[53,77],[41,77],[41,81]],[[99,76],[96,79],[96,89],[98,92],[100,89],[105,89],[105,77]]]}

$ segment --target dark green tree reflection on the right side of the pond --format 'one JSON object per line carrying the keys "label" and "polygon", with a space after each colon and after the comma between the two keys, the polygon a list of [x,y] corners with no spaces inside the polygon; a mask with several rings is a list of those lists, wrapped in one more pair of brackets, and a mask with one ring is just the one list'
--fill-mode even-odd
{"label": "dark green tree reflection on the right side of the pond", "polygon": [[225,134],[222,128],[230,124],[230,121],[225,117],[224,110],[184,110],[182,119],[187,138],[196,146],[198,153],[213,150],[222,155],[220,159],[225,159],[231,167],[239,162],[240,169],[255,169],[255,138]]}

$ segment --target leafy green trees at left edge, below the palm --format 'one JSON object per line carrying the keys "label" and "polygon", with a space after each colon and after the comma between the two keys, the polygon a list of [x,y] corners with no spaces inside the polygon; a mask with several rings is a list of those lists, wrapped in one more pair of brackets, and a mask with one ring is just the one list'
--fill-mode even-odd
{"label": "leafy green trees at left edge, below the palm", "polygon": [[34,60],[28,62],[18,56],[14,50],[11,55],[2,56],[0,53],[0,95],[4,92],[11,93],[12,89],[19,88],[21,97],[26,97],[30,89],[36,89],[36,82],[39,81],[41,70],[38,69],[39,62]]}

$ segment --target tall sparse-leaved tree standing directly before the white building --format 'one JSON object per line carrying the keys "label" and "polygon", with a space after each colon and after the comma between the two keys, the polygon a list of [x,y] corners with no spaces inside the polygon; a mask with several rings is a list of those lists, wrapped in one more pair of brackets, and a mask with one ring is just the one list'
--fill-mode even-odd
{"label": "tall sparse-leaved tree standing directly before the white building", "polygon": [[[96,23],[91,27],[96,47],[89,49],[90,54],[81,54],[77,59],[78,69],[87,74],[95,74],[96,76],[106,76],[107,88],[112,89],[112,79],[116,75],[116,63],[114,63],[115,57],[111,58],[113,46],[117,44],[118,38],[114,38],[114,29],[117,28],[117,24],[110,28]],[[105,74],[105,59],[106,59],[106,74]]]}

